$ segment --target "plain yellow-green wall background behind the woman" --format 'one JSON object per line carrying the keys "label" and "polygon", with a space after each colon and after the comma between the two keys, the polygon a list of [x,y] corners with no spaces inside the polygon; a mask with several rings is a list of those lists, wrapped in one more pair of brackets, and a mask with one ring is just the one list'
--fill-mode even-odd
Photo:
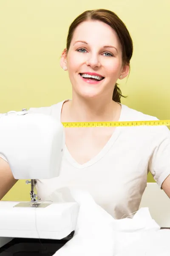
{"label": "plain yellow-green wall background behind the woman", "polygon": [[[98,8],[116,12],[133,38],[122,103],[170,119],[170,0],[0,0],[0,113],[71,98],[59,66],[68,27],[80,13]],[[29,190],[20,180],[3,200],[29,200]]]}

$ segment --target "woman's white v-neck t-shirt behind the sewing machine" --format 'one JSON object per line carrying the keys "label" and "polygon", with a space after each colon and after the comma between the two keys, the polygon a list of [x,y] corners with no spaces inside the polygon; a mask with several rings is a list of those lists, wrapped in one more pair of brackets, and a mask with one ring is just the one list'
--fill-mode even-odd
{"label": "woman's white v-neck t-shirt behind the sewing machine", "polygon": [[[30,108],[29,112],[51,115],[60,121],[64,102]],[[142,120],[158,119],[122,105],[119,121]],[[77,163],[65,145],[59,177],[37,180],[37,192],[44,200],[65,186],[85,189],[114,218],[122,218],[139,209],[149,171],[160,187],[170,175],[169,129],[166,126],[116,127],[104,148],[87,163]]]}

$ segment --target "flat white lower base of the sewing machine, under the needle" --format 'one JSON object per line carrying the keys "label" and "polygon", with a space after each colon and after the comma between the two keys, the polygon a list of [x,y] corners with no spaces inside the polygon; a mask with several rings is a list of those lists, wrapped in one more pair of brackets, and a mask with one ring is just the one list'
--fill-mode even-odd
{"label": "flat white lower base of the sewing machine, under the needle", "polygon": [[21,202],[0,201],[0,241],[5,237],[60,240],[76,228],[76,202],[49,203],[43,208],[21,207],[23,203],[16,207],[18,203]]}

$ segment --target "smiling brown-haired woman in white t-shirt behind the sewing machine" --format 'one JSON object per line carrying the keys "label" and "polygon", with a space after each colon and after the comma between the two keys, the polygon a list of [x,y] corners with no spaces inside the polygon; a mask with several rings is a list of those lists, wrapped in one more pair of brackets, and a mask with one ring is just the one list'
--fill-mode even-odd
{"label": "smiling brown-haired woman in white t-shirt behind the sewing machine", "polygon": [[[120,103],[118,79],[130,70],[133,43],[125,24],[111,11],[83,12],[71,24],[61,67],[72,84],[72,100],[30,108],[61,122],[155,120]],[[167,127],[65,128],[61,175],[38,180],[44,200],[62,186],[88,190],[114,218],[139,209],[150,171],[170,196],[170,133]],[[6,159],[0,160],[1,198],[14,185]]]}

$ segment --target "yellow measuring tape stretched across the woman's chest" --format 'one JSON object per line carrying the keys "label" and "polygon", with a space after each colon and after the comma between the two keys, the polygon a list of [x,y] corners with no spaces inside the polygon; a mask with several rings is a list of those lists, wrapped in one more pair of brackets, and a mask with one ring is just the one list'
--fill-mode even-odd
{"label": "yellow measuring tape stretched across the woman's chest", "polygon": [[125,127],[125,126],[168,126],[170,120],[126,121],[126,122],[62,122],[65,128],[74,127]]}

